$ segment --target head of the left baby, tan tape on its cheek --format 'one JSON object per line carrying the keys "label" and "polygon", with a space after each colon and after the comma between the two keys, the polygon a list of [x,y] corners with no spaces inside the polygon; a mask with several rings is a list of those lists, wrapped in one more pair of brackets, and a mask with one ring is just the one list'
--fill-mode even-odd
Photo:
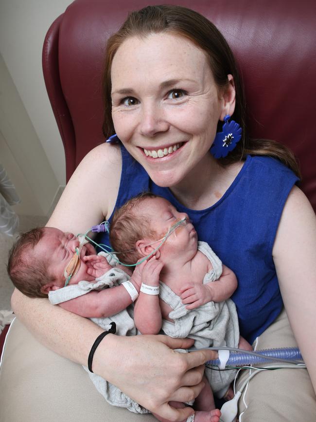
{"label": "head of the left baby, tan tape on its cheek", "polygon": [[[17,289],[29,297],[47,297],[51,290],[65,285],[64,271],[79,246],[79,240],[71,233],[54,227],[39,227],[23,233],[9,253],[8,274]],[[81,258],[95,254],[92,245],[84,245]],[[78,272],[69,284],[80,280],[92,281],[87,266],[81,259]]]}

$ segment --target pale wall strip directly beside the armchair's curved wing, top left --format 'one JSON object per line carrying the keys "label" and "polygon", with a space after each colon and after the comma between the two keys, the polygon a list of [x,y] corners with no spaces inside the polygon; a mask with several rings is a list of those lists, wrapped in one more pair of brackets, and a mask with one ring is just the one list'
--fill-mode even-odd
{"label": "pale wall strip directly beside the armchair's curved wing, top left", "polygon": [[0,53],[58,185],[66,179],[64,148],[44,84],[41,55],[48,28],[70,3],[0,0]]}

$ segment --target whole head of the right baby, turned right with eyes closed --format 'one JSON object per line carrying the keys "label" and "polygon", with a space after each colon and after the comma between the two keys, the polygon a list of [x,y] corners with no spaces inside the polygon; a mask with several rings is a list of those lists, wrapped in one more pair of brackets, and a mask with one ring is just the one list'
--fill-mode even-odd
{"label": "whole head of the right baby, turned right with eyes closed", "polygon": [[[159,245],[168,230],[181,219],[187,219],[186,230],[177,229],[156,253],[180,253],[192,245],[197,248],[196,232],[185,213],[180,213],[166,199],[151,193],[143,193],[126,202],[115,211],[110,224],[112,248],[120,252],[118,258],[126,264],[135,264],[141,257],[148,256]],[[194,238],[194,239],[193,239]],[[193,239],[193,241],[192,241]],[[150,245],[150,243],[154,242]],[[147,245],[147,246],[146,246]],[[127,252],[124,252],[127,251]],[[130,251],[130,252],[128,252]],[[161,257],[160,257],[161,258]]]}

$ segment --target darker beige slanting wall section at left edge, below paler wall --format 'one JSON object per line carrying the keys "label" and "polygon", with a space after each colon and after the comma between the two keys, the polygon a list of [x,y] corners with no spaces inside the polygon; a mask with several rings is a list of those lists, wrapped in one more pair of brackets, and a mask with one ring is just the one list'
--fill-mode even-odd
{"label": "darker beige slanting wall section at left edge, below paler wall", "polygon": [[0,162],[21,199],[15,212],[47,216],[59,184],[1,55]]}

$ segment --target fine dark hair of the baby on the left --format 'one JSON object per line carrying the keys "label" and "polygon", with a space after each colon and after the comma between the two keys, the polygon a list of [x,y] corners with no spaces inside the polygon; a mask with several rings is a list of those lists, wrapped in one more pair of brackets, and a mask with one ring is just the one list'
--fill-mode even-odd
{"label": "fine dark hair of the baby on the left", "polygon": [[9,252],[8,274],[15,287],[29,297],[48,297],[41,292],[41,287],[54,281],[54,276],[48,273],[47,262],[32,254],[44,232],[45,227],[37,227],[20,234]]}

